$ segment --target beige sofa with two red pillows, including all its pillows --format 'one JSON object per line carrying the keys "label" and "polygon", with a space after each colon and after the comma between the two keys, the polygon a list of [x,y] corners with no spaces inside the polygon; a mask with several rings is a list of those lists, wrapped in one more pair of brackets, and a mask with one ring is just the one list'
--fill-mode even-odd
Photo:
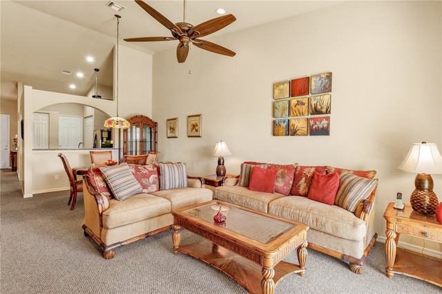
{"label": "beige sofa with two red pillows, including all its pillows", "polygon": [[213,197],[307,224],[309,248],[350,264],[354,273],[376,241],[376,171],[243,162]]}

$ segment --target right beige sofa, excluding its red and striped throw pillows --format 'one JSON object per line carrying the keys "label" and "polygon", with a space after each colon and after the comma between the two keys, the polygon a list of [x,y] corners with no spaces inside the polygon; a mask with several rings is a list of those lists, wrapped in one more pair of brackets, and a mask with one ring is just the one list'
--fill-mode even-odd
{"label": "right beige sofa, excluding its red and striped throw pillows", "polygon": [[[244,162],[242,165],[256,165],[256,163],[258,162]],[[285,195],[287,193],[253,191],[249,187],[238,186],[241,176],[244,176],[243,168],[241,168],[240,176],[225,178],[223,185],[215,189],[213,196],[218,200],[307,224],[310,227],[307,232],[307,241],[311,249],[343,260],[350,264],[350,269],[354,273],[362,273],[365,259],[377,238],[372,225],[377,179],[369,180],[369,178],[374,177],[376,171],[342,171],[342,169],[335,169],[334,167],[309,167],[310,169],[308,169],[295,165],[294,180],[287,196]],[[355,203],[356,209],[353,212],[340,207],[336,203],[331,205],[312,200],[309,198],[309,185],[312,185],[313,177],[302,177],[301,173],[303,171],[304,174],[309,174],[309,172],[314,174],[311,171],[318,169],[326,175],[333,174],[336,171],[339,175],[339,181],[342,178],[341,174],[347,176],[352,174],[349,176],[352,179],[370,182],[371,187],[369,189],[372,190],[366,191],[367,198],[357,200],[357,204]],[[358,174],[365,177],[359,177]],[[285,176],[287,177],[287,175]],[[278,177],[276,177],[276,181],[278,181]],[[298,186],[296,187],[296,185]],[[339,185],[341,185],[341,181]],[[338,189],[347,188],[347,185],[342,185]],[[298,194],[299,191],[302,195],[291,195]],[[287,192],[287,189],[285,192]],[[338,190],[338,193],[343,194],[340,190]]]}

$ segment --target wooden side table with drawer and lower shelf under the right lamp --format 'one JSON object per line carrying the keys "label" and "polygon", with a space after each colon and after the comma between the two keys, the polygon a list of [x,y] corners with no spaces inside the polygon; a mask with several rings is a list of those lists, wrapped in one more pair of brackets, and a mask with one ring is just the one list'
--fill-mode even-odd
{"label": "wooden side table with drawer and lower shelf under the right lamp", "polygon": [[434,215],[424,216],[413,211],[409,204],[405,204],[402,210],[395,209],[393,202],[388,204],[384,218],[387,220],[387,231],[385,231],[387,277],[392,279],[394,273],[400,273],[442,286],[442,260],[397,249],[401,233],[442,243],[442,224],[436,221]]}

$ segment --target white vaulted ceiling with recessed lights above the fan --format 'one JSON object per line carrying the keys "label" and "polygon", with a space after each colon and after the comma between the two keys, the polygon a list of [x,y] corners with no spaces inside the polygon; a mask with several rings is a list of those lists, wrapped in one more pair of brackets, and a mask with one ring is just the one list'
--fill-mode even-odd
{"label": "white vaulted ceiling with recessed lights above the fan", "polygon": [[[125,38],[138,36],[170,36],[153,17],[135,1],[116,0],[124,10],[108,8],[108,0],[99,1],[0,1],[1,10],[1,98],[17,99],[17,82],[35,89],[85,95],[95,85],[94,68],[99,68],[99,84],[112,85],[112,48],[119,44],[154,54],[177,46],[177,41],[128,43]],[[184,1],[145,1],[164,17],[177,23],[184,21]],[[226,28],[202,39],[262,25],[296,14],[318,10],[343,1],[215,1],[188,0],[186,22],[198,25],[219,17],[217,8],[224,8],[236,17]],[[220,44],[222,45],[222,44]],[[235,48],[229,48],[235,51]],[[191,53],[190,53],[191,54]],[[94,56],[87,63],[86,56]],[[175,54],[171,58],[176,59]],[[61,70],[72,71],[71,76]],[[84,78],[77,78],[81,71]],[[75,83],[71,90],[68,85]]]}

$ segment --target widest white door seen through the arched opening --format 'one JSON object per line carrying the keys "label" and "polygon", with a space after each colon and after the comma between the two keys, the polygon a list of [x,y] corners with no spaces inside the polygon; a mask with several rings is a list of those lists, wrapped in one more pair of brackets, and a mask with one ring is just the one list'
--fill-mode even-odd
{"label": "widest white door seen through the arched opening", "polygon": [[58,140],[61,149],[76,149],[83,142],[83,118],[59,116]]}

